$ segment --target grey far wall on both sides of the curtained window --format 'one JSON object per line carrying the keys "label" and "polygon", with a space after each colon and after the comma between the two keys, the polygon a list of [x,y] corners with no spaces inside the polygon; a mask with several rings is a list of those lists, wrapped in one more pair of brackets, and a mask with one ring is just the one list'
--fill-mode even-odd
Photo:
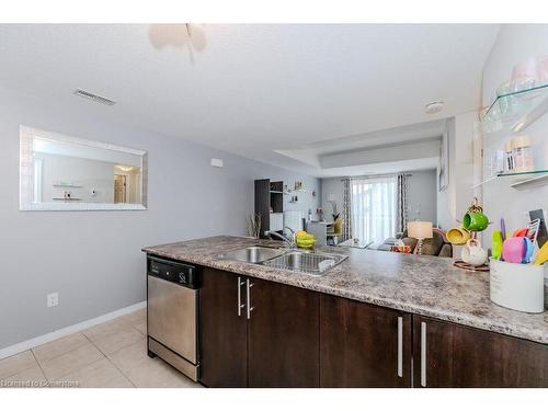
{"label": "grey far wall on both sides of the curtained window", "polygon": [[[436,222],[436,171],[435,170],[415,170],[406,172],[412,174],[408,179],[408,215],[412,219],[415,217],[415,210],[420,207],[421,219]],[[343,183],[341,178],[321,179],[322,206],[328,221],[332,221],[332,206],[327,202],[328,193],[333,193],[338,210],[342,213]]]}

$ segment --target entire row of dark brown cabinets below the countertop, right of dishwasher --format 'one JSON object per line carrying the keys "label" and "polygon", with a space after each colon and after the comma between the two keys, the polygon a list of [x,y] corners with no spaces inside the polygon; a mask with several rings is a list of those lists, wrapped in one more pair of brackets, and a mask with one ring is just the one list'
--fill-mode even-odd
{"label": "entire row of dark brown cabinets below the countertop, right of dishwasher", "polygon": [[199,292],[208,387],[548,387],[545,344],[213,269]]}

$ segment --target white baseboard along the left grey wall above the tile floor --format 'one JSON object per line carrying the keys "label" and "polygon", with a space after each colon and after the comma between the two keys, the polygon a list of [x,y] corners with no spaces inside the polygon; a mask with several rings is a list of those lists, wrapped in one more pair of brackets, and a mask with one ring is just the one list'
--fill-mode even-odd
{"label": "white baseboard along the left grey wall above the tile floor", "polygon": [[62,329],[57,330],[57,331],[48,332],[47,334],[36,336],[34,339],[31,339],[31,340],[26,340],[26,341],[20,342],[18,344],[7,346],[5,349],[0,350],[0,359],[19,354],[19,353],[22,353],[23,351],[26,351],[30,349],[34,349],[35,346],[38,346],[38,345],[48,343],[50,341],[60,339],[61,336],[66,336],[66,335],[72,334],[75,332],[85,330],[87,328],[100,324],[102,322],[113,320],[117,317],[125,316],[127,313],[130,313],[133,311],[137,311],[141,308],[145,308],[145,307],[147,307],[147,301],[140,301],[140,302],[134,304],[133,306],[124,307],[124,308],[121,308],[119,310],[107,312],[104,316],[95,317],[95,318],[92,318],[91,320],[79,322],[77,324],[69,326],[69,327],[62,328]]}

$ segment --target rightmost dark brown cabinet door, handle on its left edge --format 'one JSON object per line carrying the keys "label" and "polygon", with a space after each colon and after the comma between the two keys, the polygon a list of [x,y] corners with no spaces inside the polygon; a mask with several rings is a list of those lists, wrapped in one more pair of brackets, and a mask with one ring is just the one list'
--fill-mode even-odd
{"label": "rightmost dark brown cabinet door, handle on its left edge", "polygon": [[548,345],[413,317],[414,386],[548,387]]}

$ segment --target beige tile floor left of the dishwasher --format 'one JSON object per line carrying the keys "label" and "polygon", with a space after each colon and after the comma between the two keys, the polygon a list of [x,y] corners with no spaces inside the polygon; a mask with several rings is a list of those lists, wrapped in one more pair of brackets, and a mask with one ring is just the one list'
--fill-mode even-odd
{"label": "beige tile floor left of the dishwasher", "polygon": [[0,359],[0,387],[201,387],[147,355],[146,310]]}

